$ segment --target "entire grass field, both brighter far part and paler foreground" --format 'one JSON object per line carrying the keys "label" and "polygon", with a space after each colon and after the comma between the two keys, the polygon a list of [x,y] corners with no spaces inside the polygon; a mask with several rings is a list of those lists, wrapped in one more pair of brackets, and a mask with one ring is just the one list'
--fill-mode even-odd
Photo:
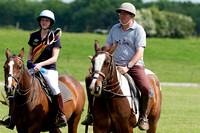
{"label": "entire grass field, both brighter far part and paler foreground", "polygon": [[[27,44],[31,31],[0,29],[0,82],[4,82],[3,65],[6,61],[5,50],[19,54],[25,48],[26,62],[29,46]],[[101,46],[106,35],[89,33],[63,33],[62,49],[57,62],[59,74],[70,74],[79,81],[84,81],[91,63],[88,55],[94,55],[94,40]],[[148,38],[144,53],[146,68],[152,70],[160,82],[200,83],[200,39]],[[26,65],[26,63],[25,63]],[[198,133],[200,130],[200,87],[167,87],[162,86],[162,113],[158,123],[158,133]],[[3,91],[3,86],[0,86]],[[2,97],[0,96],[2,100]],[[81,121],[86,116],[85,111]],[[8,112],[8,107],[0,104],[0,119]],[[67,128],[62,129],[67,133]],[[15,133],[0,127],[0,133]],[[79,125],[78,133],[84,132]],[[136,133],[140,132],[137,128]],[[89,133],[92,133],[90,127]]]}

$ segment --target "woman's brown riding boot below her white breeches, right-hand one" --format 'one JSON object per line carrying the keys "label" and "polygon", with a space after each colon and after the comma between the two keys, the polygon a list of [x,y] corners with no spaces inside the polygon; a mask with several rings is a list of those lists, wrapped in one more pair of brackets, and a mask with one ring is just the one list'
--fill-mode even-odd
{"label": "woman's brown riding boot below her white breeches, right-hand one", "polygon": [[54,96],[54,104],[56,105],[58,114],[56,119],[56,126],[57,127],[64,127],[67,125],[67,119],[64,114],[64,106],[63,106],[63,100],[62,95],[59,93],[58,95]]}

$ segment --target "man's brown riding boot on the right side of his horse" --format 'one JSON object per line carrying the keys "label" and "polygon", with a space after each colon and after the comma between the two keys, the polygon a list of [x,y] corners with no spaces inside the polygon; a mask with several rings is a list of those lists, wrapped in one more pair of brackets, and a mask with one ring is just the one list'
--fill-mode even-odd
{"label": "man's brown riding boot on the right side of his horse", "polygon": [[141,97],[141,115],[140,120],[138,123],[138,127],[140,130],[148,130],[149,129],[149,122],[148,122],[148,115],[147,115],[147,108],[149,105],[150,97],[149,96],[142,96]]}

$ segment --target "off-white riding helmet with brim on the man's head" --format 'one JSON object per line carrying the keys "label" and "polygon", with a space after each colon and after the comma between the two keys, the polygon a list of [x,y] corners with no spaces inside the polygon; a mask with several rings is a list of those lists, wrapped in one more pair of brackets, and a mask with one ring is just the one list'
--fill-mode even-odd
{"label": "off-white riding helmet with brim on the man's head", "polygon": [[128,2],[122,3],[120,8],[116,9],[115,11],[117,13],[119,13],[120,11],[126,11],[126,12],[133,14],[133,15],[136,15],[135,6],[131,3],[128,3]]}

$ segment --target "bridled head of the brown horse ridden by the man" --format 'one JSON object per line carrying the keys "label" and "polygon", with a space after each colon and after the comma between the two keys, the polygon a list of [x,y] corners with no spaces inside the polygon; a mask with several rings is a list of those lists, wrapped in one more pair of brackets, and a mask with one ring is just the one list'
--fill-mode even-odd
{"label": "bridled head of the brown horse ridden by the man", "polygon": [[109,49],[101,50],[99,47],[98,41],[95,41],[95,51],[96,54],[92,58],[93,64],[93,74],[92,82],[90,84],[91,94],[99,96],[103,88],[106,88],[107,82],[111,80],[113,69],[114,69],[114,60],[112,53],[117,47],[117,42],[111,46]]}

